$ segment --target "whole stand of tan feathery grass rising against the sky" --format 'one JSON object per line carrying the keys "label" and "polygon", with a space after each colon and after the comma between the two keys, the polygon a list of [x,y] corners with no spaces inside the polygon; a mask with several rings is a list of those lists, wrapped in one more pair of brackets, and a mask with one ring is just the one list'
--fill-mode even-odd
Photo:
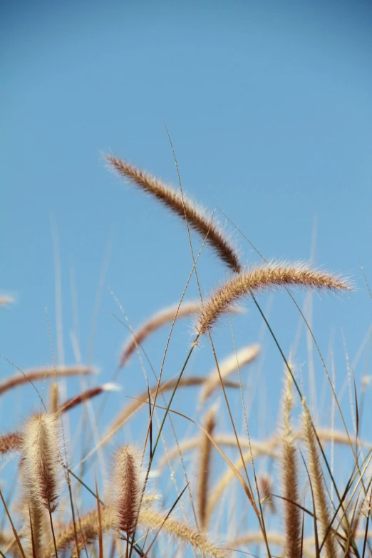
{"label": "whole stand of tan feathery grass rising against the sky", "polygon": [[[352,291],[350,282],[306,263],[242,262],[214,215],[185,195],[181,184],[178,191],[118,157],[109,156],[108,162],[120,176],[160,201],[187,225],[193,259],[190,277],[195,274],[197,278],[200,301],[184,300],[184,289],[178,304],[149,316],[138,329],[129,328],[115,377],[119,371],[126,374],[125,391],[131,399],[121,399],[110,424],[101,419],[116,386],[88,386],[82,378],[91,375],[92,366],[78,363],[17,370],[1,381],[0,395],[25,383],[38,391],[36,383],[53,382],[50,401],[46,403],[44,391],[38,391],[40,409],[15,424],[13,431],[0,435],[4,467],[16,472],[14,487],[6,491],[9,497],[5,499],[1,492],[1,555],[372,556],[372,448],[368,440],[359,438],[358,429],[358,410],[366,386],[360,394],[355,383],[353,386],[356,431],[318,424],[314,409],[306,402],[301,368],[293,358],[285,358],[256,299],[267,289],[289,291],[292,286],[341,294]],[[195,257],[190,229],[200,234],[202,248],[205,243],[212,247],[232,273],[207,296],[197,275],[200,252]],[[244,299],[253,299],[284,359],[284,391],[277,397],[281,411],[277,429],[268,437],[252,436],[252,386],[259,378],[252,381],[251,373],[247,381],[244,376],[244,368],[250,369],[259,361],[262,346],[252,340],[248,346],[237,348],[232,329],[234,353],[219,361],[218,346],[212,338],[217,323]],[[10,297],[1,298],[1,305],[10,303]],[[288,297],[287,304],[293,305],[293,299]],[[189,322],[192,343],[185,347],[187,356],[180,357],[175,376],[164,379],[165,356],[180,318]],[[162,366],[153,368],[154,381],[148,381],[141,393],[133,393],[130,361],[138,353],[141,366],[145,367],[144,361],[150,363],[145,350],[148,338],[166,325],[170,334]],[[314,338],[312,331],[311,335]],[[192,353],[197,346],[206,350],[201,341],[208,338],[214,368],[210,373],[190,373]],[[81,378],[81,391],[61,401],[71,376]],[[195,390],[199,392],[196,396]],[[232,391],[241,394],[240,399],[234,398],[234,405]],[[193,394],[190,408],[195,413],[180,412],[176,393],[184,398]],[[333,386],[332,395],[341,411]],[[93,406],[93,398],[100,403]],[[72,410],[80,415],[75,414],[73,425],[68,425],[66,418]],[[143,438],[135,444],[123,443],[138,415],[145,425]],[[71,426],[78,441],[73,448],[69,445],[73,451],[68,455]],[[114,450],[109,447],[113,444]],[[98,467],[102,455],[110,455],[108,469]],[[335,460],[335,455],[347,455],[346,477],[341,477],[341,461]]]}

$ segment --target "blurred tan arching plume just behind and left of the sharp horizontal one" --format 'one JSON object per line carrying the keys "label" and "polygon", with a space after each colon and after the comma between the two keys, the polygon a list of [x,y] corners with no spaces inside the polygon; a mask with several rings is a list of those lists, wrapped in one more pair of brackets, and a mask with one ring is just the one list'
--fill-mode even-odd
{"label": "blurred tan arching plume just behind and left of the sharp horizontal one", "polygon": [[157,329],[165,326],[165,324],[168,324],[175,319],[178,320],[192,314],[197,314],[197,312],[200,311],[200,307],[200,302],[184,302],[181,306],[179,306],[179,304],[175,304],[174,306],[169,306],[168,308],[160,310],[157,314],[150,316],[150,318],[145,321],[142,326],[140,326],[136,331],[133,331],[130,338],[123,346],[120,353],[120,368],[125,366],[135,349]]}

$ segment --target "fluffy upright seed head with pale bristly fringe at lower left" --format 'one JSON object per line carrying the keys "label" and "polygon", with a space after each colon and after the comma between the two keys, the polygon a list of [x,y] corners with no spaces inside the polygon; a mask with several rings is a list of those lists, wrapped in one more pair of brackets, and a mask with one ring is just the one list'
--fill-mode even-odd
{"label": "fluffy upright seed head with pale bristly fringe at lower left", "polygon": [[31,493],[36,501],[53,512],[58,505],[61,467],[56,415],[33,415],[26,423],[22,446]]}

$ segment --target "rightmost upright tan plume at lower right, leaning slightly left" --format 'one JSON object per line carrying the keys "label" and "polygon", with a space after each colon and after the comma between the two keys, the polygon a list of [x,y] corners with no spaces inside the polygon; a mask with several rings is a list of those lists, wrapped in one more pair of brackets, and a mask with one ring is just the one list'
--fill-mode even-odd
{"label": "rightmost upright tan plume at lower right, leaning slightly left", "polygon": [[[321,468],[314,427],[311,423],[309,410],[306,408],[306,405],[304,406],[304,411],[302,413],[302,423],[304,428],[304,438],[306,440],[308,450],[308,467],[311,485],[315,496],[316,517],[319,521],[322,538],[326,536],[326,541],[324,542],[326,558],[336,558],[338,556],[338,552],[336,550],[334,532],[333,529],[329,529],[329,525],[331,524],[331,514],[329,512],[329,502],[326,494],[326,482]],[[326,535],[326,533],[328,534]]]}

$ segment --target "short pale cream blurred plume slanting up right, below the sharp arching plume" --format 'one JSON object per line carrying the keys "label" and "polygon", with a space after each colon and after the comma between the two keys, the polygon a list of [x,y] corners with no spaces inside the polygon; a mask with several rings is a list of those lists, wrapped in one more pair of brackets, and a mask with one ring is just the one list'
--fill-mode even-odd
{"label": "short pale cream blurred plume slanting up right, below the sharp arching plume", "polygon": [[[222,380],[228,378],[230,374],[237,371],[238,368],[240,369],[248,363],[254,361],[258,354],[259,345],[254,344],[243,347],[240,351],[237,351],[237,353],[233,353],[231,356],[227,357],[219,364],[219,373],[221,374]],[[205,403],[207,398],[209,398],[218,386],[221,385],[219,373],[217,368],[214,368],[208,376],[205,386],[202,388],[202,392],[200,394],[200,401],[202,403]]]}

